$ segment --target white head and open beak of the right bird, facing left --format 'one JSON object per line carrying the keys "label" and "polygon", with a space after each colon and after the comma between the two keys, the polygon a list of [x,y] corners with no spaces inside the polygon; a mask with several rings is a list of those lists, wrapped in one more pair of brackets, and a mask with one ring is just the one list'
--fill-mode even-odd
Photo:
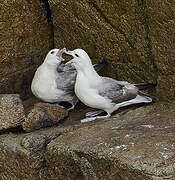
{"label": "white head and open beak of the right bird, facing left", "polygon": [[66,64],[73,64],[77,70],[91,67],[91,59],[83,49],[75,49],[73,51],[65,51],[66,54],[73,56],[73,59]]}

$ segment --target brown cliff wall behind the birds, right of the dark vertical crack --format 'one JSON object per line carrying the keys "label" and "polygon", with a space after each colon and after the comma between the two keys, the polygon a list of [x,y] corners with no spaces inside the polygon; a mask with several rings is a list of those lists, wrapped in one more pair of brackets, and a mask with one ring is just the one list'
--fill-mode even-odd
{"label": "brown cliff wall behind the birds, right of the dark vertical crack", "polygon": [[83,48],[107,58],[108,75],[157,82],[157,97],[175,99],[174,2],[49,0],[56,47]]}

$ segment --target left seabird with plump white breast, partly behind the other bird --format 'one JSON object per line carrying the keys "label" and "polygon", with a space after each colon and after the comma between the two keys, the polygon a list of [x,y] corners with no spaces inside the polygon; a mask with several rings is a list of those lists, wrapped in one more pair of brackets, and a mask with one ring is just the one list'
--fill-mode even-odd
{"label": "left seabird with plump white breast, partly behind the other bird", "polygon": [[[78,102],[74,93],[76,70],[71,65],[62,63],[62,54],[65,49],[52,49],[48,52],[44,62],[38,67],[32,80],[32,93],[39,99],[48,103],[62,105],[68,102],[71,110]],[[94,65],[100,70],[103,63]]]}

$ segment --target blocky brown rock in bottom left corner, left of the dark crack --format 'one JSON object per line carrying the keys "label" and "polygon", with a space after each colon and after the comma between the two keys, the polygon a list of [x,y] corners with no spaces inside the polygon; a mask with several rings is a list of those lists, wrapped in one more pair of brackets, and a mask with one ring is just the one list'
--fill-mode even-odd
{"label": "blocky brown rock in bottom left corner, left of the dark crack", "polygon": [[52,130],[0,136],[0,179],[44,180],[45,150],[59,132]]}

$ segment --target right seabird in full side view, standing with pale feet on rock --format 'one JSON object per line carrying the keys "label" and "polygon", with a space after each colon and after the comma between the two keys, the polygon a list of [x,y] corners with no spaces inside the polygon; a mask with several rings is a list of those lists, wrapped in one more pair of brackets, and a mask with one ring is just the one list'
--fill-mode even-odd
{"label": "right seabird in full side view, standing with pale feet on rock", "polygon": [[[77,70],[75,94],[85,105],[100,109],[97,112],[87,113],[86,118],[81,122],[109,118],[111,113],[120,107],[152,102],[147,94],[139,90],[141,84],[137,87],[137,85],[126,81],[116,81],[112,78],[99,76],[84,50],[75,49],[66,53],[73,56],[73,59],[66,64],[73,64]],[[103,111],[107,113],[106,116],[96,116]]]}

